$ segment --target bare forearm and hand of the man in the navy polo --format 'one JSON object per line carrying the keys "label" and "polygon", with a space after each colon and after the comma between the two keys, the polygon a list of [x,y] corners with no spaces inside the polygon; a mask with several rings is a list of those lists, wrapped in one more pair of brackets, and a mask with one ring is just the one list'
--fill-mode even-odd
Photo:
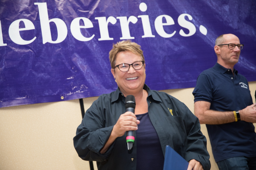
{"label": "bare forearm and hand of the man in the navy polo", "polygon": [[[241,120],[256,123],[255,105],[252,104],[239,111]],[[210,102],[195,102],[195,115],[198,117],[200,124],[224,124],[236,121],[233,111],[213,111],[210,110],[210,106]]]}

